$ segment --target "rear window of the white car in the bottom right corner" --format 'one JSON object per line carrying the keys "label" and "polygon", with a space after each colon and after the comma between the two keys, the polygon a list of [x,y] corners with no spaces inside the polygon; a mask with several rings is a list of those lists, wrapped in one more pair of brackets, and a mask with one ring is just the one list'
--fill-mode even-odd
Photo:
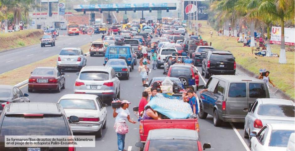
{"label": "rear window of the white car in the bottom right corner", "polygon": [[269,146],[287,147],[291,133],[294,133],[294,130],[273,130]]}

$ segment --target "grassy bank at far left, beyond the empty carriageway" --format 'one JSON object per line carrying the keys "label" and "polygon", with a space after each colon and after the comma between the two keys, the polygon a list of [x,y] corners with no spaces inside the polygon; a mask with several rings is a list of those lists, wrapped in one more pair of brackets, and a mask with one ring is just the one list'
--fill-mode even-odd
{"label": "grassy bank at far left, beyond the empty carriageway", "polygon": [[0,52],[7,49],[38,44],[42,35],[43,31],[41,29],[28,29],[0,34]]}

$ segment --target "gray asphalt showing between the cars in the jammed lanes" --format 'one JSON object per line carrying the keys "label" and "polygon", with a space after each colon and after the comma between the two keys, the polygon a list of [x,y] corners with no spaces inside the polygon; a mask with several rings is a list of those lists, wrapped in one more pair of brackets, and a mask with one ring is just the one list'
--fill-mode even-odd
{"label": "gray asphalt showing between the cars in the jammed lanes", "polygon": [[[78,36],[77,36],[78,37]],[[72,38],[72,37],[71,37]],[[73,41],[73,40],[71,40]],[[87,58],[87,65],[102,65],[103,57],[89,57]],[[137,120],[132,112],[132,107],[138,106],[139,100],[141,98],[141,93],[144,87],[141,85],[141,79],[139,77],[138,65],[132,70],[129,80],[121,80],[121,100],[126,99],[131,102],[129,111],[131,118]],[[59,98],[65,94],[73,93],[74,81],[77,78],[76,71],[66,72],[66,89],[62,89],[60,93],[50,92],[50,91],[34,91],[33,93],[28,93],[27,86],[23,86],[21,90],[24,93],[29,94],[29,99],[31,102],[57,102]],[[156,76],[164,76],[163,69],[152,70],[149,74],[149,78]],[[207,82],[200,78],[200,85]],[[117,148],[117,136],[113,128],[115,119],[112,117],[112,108],[107,107],[107,128],[103,130],[102,138],[96,138],[95,148],[77,148],[78,151],[115,151]],[[211,143],[212,148],[206,150],[216,150],[216,151],[247,151],[248,140],[242,138],[242,132],[244,129],[243,123],[224,123],[222,127],[214,127],[212,116],[208,115],[207,119],[199,119],[200,124],[200,136],[202,143]],[[138,150],[135,147],[135,143],[138,141],[138,127],[139,124],[127,123],[129,126],[129,133],[126,134],[126,150]],[[87,135],[81,133],[75,133],[75,135]],[[92,134],[90,134],[92,135]],[[242,140],[242,141],[241,141]],[[243,144],[243,143],[244,144]]]}

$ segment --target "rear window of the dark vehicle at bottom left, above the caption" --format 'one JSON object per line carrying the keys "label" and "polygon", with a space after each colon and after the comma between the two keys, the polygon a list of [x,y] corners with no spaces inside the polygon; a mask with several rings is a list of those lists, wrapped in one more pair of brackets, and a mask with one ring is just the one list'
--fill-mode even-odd
{"label": "rear window of the dark vehicle at bottom left, above the caption", "polygon": [[4,135],[69,135],[62,115],[43,117],[24,117],[24,115],[5,115],[0,131]]}

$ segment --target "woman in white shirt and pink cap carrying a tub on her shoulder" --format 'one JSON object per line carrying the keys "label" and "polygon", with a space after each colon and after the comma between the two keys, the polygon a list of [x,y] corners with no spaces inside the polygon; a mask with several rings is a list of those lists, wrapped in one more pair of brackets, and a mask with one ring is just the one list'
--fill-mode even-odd
{"label": "woman in white shirt and pink cap carrying a tub on her shoulder", "polygon": [[118,138],[118,149],[119,151],[126,151],[124,149],[125,147],[125,136],[126,133],[129,132],[129,128],[126,124],[126,120],[128,120],[129,122],[135,124],[135,121],[132,121],[130,118],[130,112],[128,110],[129,104],[131,104],[129,101],[127,100],[123,100],[121,102],[121,108],[113,108],[114,112],[113,112],[113,117],[115,119],[115,132],[117,133],[117,138]]}

